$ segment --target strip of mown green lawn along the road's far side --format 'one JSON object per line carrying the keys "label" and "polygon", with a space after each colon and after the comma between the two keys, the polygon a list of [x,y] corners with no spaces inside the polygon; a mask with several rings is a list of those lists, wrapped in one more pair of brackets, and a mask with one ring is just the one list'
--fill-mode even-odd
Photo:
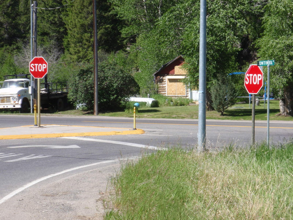
{"label": "strip of mown green lawn along the road's far side", "polygon": [[[236,104],[220,116],[217,111],[207,111],[207,119],[218,120],[251,120],[251,108],[249,104]],[[3,111],[2,111],[3,113]],[[12,113],[12,112],[10,112]],[[14,113],[18,114],[17,111]],[[293,117],[277,116],[279,113],[279,101],[270,101],[270,120],[293,121]],[[51,115],[51,113],[43,113]],[[55,112],[52,115],[93,115],[93,112],[82,110],[66,110]],[[133,117],[133,109],[126,111],[101,112],[101,116],[112,117]],[[148,108],[143,106],[136,111],[136,118],[177,118],[177,119],[198,119],[198,105],[189,106],[162,106],[158,108]],[[255,107],[255,120],[267,120],[267,105],[264,108],[263,102]]]}

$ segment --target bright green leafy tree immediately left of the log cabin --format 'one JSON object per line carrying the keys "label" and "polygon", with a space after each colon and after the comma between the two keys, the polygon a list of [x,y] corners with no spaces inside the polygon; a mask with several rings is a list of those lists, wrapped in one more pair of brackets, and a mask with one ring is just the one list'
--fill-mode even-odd
{"label": "bright green leafy tree immediately left of the log cabin", "polygon": [[176,5],[161,17],[152,30],[137,38],[133,45],[135,49],[139,48],[136,52],[139,71],[135,73],[135,79],[140,85],[142,95],[156,92],[152,74],[182,54],[181,35],[186,20],[184,12]]}

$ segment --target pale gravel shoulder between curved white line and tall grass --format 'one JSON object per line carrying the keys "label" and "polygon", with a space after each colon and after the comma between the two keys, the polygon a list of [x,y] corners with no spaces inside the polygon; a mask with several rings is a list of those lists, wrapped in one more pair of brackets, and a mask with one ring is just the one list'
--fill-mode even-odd
{"label": "pale gravel shoulder between curved white line and tall grass", "polygon": [[0,204],[0,220],[102,220],[120,163],[34,185]]}

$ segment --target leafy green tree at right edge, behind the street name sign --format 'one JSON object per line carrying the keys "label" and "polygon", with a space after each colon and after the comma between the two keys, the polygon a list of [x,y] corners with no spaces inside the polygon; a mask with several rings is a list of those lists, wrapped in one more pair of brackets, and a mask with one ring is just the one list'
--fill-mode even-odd
{"label": "leafy green tree at right edge, behind the street name sign", "polygon": [[[270,87],[280,98],[280,114],[293,116],[293,1],[270,0],[265,7],[264,32],[257,41],[261,60],[275,60]],[[266,68],[264,68],[265,70]]]}

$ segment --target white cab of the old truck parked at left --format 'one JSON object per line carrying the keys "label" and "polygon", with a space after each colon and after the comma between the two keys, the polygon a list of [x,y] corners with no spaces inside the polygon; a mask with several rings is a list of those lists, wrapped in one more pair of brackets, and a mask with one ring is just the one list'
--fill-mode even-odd
{"label": "white cab of the old truck parked at left", "polygon": [[29,112],[29,79],[7,79],[0,88],[0,109],[20,109]]}

